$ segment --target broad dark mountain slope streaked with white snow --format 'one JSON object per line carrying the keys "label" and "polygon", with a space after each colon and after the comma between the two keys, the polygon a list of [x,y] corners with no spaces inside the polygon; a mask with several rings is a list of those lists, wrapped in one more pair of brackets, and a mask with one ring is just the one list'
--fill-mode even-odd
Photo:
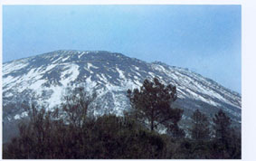
{"label": "broad dark mountain slope streaked with white snow", "polygon": [[129,108],[127,90],[145,79],[159,78],[177,88],[175,107],[185,109],[184,118],[201,109],[209,116],[223,109],[241,122],[241,95],[213,80],[162,62],[143,62],[115,52],[55,51],[3,64],[4,120],[23,115],[21,102],[35,98],[49,108],[60,105],[67,87],[85,86],[98,93],[98,113],[118,115]]}

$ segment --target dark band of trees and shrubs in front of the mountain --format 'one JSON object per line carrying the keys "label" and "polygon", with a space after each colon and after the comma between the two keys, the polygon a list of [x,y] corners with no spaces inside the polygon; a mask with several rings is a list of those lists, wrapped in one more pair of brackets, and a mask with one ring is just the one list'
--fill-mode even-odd
{"label": "dark band of trees and shrubs in front of the mountain", "polygon": [[[175,86],[145,80],[139,90],[128,90],[128,98],[131,110],[122,117],[93,117],[95,95],[82,88],[63,97],[61,109],[33,104],[19,125],[20,136],[4,145],[4,158],[241,158],[241,136],[223,110],[211,125],[196,109],[185,135],[178,124],[183,110],[172,107]],[[158,133],[160,128],[166,133]]]}

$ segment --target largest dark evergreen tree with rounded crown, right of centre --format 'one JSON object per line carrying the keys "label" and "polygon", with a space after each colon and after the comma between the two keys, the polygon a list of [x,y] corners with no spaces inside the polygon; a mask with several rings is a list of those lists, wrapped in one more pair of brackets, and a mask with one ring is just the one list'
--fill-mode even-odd
{"label": "largest dark evergreen tree with rounded crown, right of centre", "polygon": [[177,98],[175,86],[165,86],[156,78],[153,82],[145,80],[140,90],[128,90],[128,98],[136,117],[149,122],[152,131],[159,124],[179,121],[183,113],[181,109],[171,108]]}

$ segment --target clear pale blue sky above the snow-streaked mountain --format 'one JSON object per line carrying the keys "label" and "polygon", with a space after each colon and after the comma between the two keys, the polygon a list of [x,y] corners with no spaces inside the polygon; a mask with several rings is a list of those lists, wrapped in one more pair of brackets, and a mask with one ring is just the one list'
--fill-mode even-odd
{"label": "clear pale blue sky above the snow-streaked mountain", "polygon": [[166,62],[241,93],[240,5],[3,6],[3,62],[61,49]]}

